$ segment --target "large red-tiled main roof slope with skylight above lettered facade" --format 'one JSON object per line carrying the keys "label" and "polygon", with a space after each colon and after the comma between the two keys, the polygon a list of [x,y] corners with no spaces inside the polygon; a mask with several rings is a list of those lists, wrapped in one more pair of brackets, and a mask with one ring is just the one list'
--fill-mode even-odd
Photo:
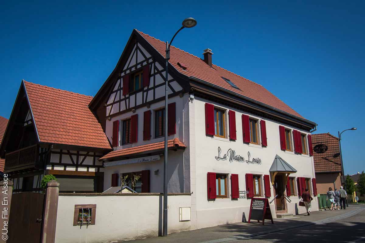
{"label": "large red-tiled main roof slope with skylight above lettered facade", "polygon": [[[141,31],[138,32],[165,58],[165,42],[144,34]],[[281,111],[285,111],[289,114],[303,118],[299,113],[297,113],[295,110],[293,110],[291,107],[289,107],[287,104],[285,104],[283,101],[281,101],[279,98],[277,98],[270,91],[268,91],[258,83],[243,78],[215,64],[213,64],[213,68],[211,68],[202,59],[192,54],[189,54],[188,52],[180,50],[179,48],[176,48],[174,46],[170,47],[169,62],[184,75],[199,78],[224,89],[233,91],[234,93],[237,93],[239,95],[246,96],[248,98],[254,99],[255,101],[262,102]],[[183,71],[181,67],[178,66],[178,62],[183,62],[184,64],[186,64],[187,69]],[[222,79],[222,77],[228,78],[236,86],[238,86],[240,90],[237,90],[229,85],[226,81]]]}

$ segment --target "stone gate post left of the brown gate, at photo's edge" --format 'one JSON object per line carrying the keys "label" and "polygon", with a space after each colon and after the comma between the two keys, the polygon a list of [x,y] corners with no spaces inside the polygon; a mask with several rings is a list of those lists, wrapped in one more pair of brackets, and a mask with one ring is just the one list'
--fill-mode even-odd
{"label": "stone gate post left of the brown gate, at photo's edge", "polygon": [[[6,175],[6,176],[5,176]],[[11,195],[13,194],[13,182],[8,179],[7,174],[4,174],[4,180],[0,181],[0,209],[1,215],[1,240],[6,242],[8,239],[8,227],[10,216]],[[5,214],[7,213],[7,214]]]}

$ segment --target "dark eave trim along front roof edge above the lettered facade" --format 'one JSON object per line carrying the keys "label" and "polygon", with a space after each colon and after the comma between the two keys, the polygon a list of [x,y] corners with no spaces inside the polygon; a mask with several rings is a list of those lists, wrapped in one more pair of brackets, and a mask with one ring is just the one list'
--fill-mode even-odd
{"label": "dark eave trim along front roof edge above the lettered facade", "polygon": [[[192,81],[196,81],[196,82],[192,82],[192,87],[197,88],[198,91],[203,91],[204,93],[208,92],[211,95],[215,95],[215,96],[219,96],[219,98],[225,98],[226,100],[229,99],[230,102],[232,103],[239,103],[239,105],[243,105],[246,107],[249,107],[250,109],[255,109],[255,110],[259,110],[261,112],[264,112],[266,114],[269,115],[273,115],[274,117],[278,117],[281,119],[285,119],[287,121],[296,123],[297,125],[306,127],[307,130],[310,130],[312,128],[314,128],[317,124],[315,122],[309,121],[307,119],[303,119],[300,117],[297,117],[295,115],[289,114],[285,111],[276,109],[272,106],[266,105],[262,102],[256,101],[254,99],[251,99],[249,97],[243,96],[243,95],[239,95],[237,93],[234,93],[230,90],[224,89],[220,86],[214,85],[210,82],[206,82],[204,80],[201,80],[199,78],[196,77],[189,77]],[[203,85],[203,86],[202,86]],[[208,86],[208,87],[204,87],[204,86]],[[218,91],[219,93],[215,93],[212,91],[212,88],[216,89],[216,91]],[[224,94],[227,93],[227,94]],[[234,98],[230,97],[231,95],[234,96]],[[237,99],[237,98],[239,99]]]}

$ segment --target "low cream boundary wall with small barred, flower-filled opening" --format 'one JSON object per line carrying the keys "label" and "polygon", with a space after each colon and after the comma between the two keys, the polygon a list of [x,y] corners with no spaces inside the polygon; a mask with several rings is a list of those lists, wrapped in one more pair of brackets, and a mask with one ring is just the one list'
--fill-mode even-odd
{"label": "low cream boundary wall with small barred, flower-filled opening", "polygon": [[[96,204],[95,225],[73,226],[75,204]],[[190,207],[189,195],[168,196],[168,233],[191,230],[179,221],[179,208]],[[56,243],[113,242],[158,236],[162,227],[162,196],[69,195],[58,198]],[[162,231],[161,231],[162,232]]]}

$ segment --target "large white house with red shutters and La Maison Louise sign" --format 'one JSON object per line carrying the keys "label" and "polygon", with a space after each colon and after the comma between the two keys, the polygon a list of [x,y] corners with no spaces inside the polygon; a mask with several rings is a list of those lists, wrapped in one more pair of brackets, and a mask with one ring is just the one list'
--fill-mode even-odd
{"label": "large white house with red shutters and La Maison Louise sign", "polygon": [[120,176],[139,175],[131,189],[163,191],[167,125],[168,192],[191,193],[193,228],[240,222],[252,197],[277,196],[273,216],[303,213],[297,207],[303,190],[317,194],[310,134],[316,124],[261,85],[213,64],[211,50],[200,59],[173,46],[166,114],[165,47],[134,30],[89,104],[114,148],[99,159],[104,190],[119,186]]}

